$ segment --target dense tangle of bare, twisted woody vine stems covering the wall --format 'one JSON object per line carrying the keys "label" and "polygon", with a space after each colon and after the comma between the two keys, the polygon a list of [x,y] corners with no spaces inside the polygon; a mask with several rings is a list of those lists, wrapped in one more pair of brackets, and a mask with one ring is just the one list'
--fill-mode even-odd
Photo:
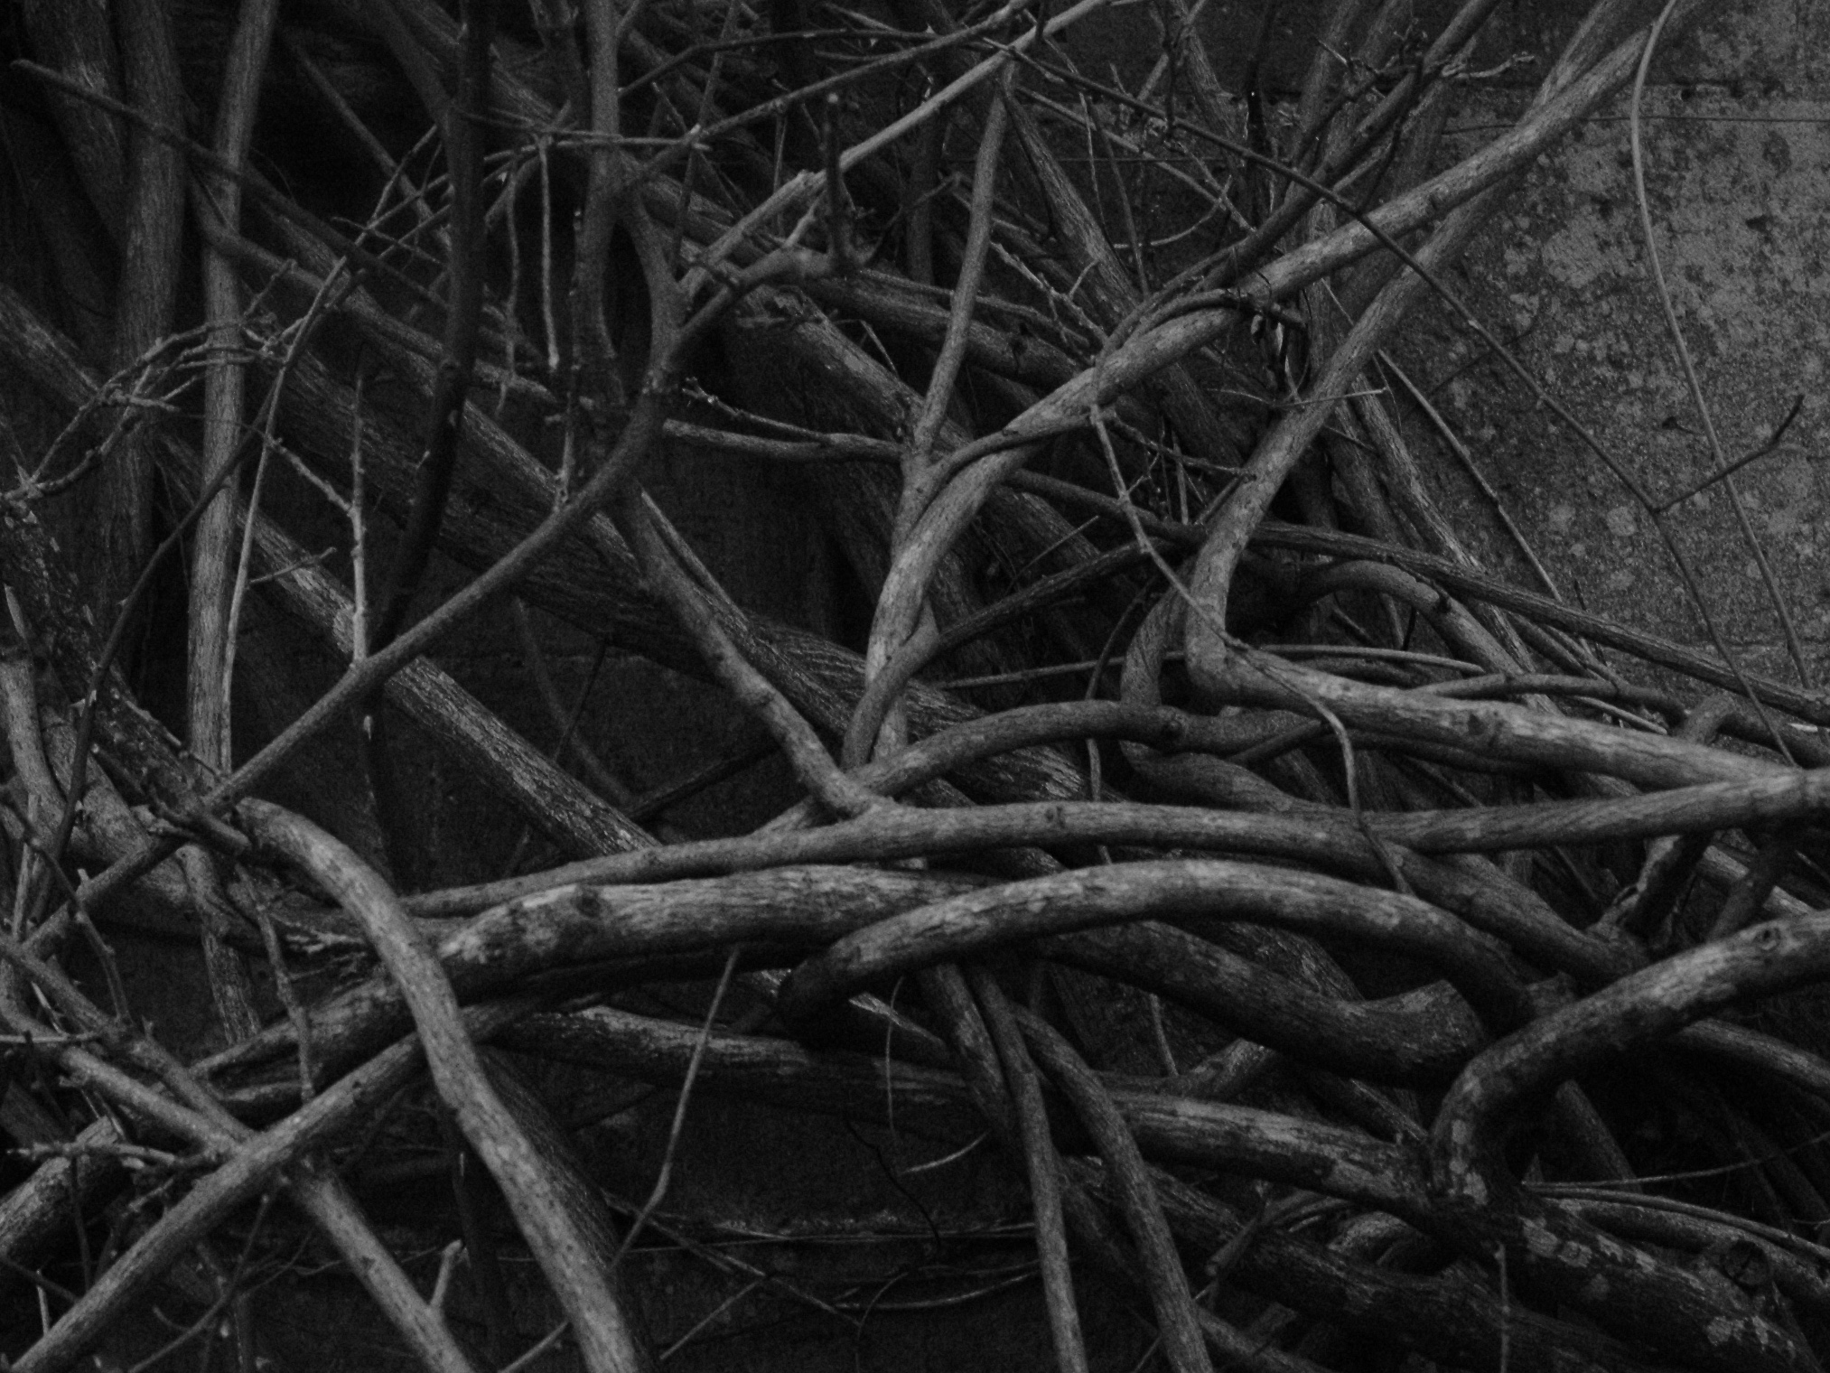
{"label": "dense tangle of bare, twisted woody vine stems covering the wall", "polygon": [[[60,168],[27,214],[108,271],[106,328],[57,273],[0,284],[0,1064],[33,1102],[0,1119],[0,1261],[37,1311],[13,1368],[79,1366],[243,1241],[161,1353],[253,1329],[253,1236],[285,1227],[426,1368],[664,1362],[692,1331],[655,1347],[631,1245],[679,1234],[705,1093],[1001,1151],[1063,1369],[1109,1362],[1093,1276],[1177,1373],[1358,1368],[1356,1342],[1819,1366],[1830,1062],[1766,1012],[1830,976],[1830,707],[1771,573],[1797,683],[1728,652],[1682,496],[1442,271],[1629,88],[1645,211],[1647,71],[1707,7],[1601,0],[1446,170],[1493,0],[1438,31],[1340,0],[1288,99],[1263,53],[1230,90],[1180,0],[1129,11],[1146,75],[1082,70],[1107,7],[245,0],[198,33],[159,0],[22,9],[0,99]],[[285,101],[379,201],[296,194],[260,123]],[[1711,648],[1566,604],[1530,549],[1545,591],[1468,551],[1426,480],[1460,439],[1393,359],[1429,298],[1627,483]],[[1748,459],[1667,317],[1733,489]],[[644,489],[677,443],[818,492],[869,602],[849,641],[719,582]],[[505,599],[558,747],[437,663]],[[236,740],[251,606],[337,676]],[[765,743],[644,798],[573,741],[529,611],[714,685]],[[179,710],[145,688],[148,633],[187,644]],[[271,798],[350,719],[370,855]],[[540,862],[436,870],[401,721]],[[639,818],[763,754],[800,800],[754,833]],[[112,963],[128,908],[196,934],[220,1051],[145,1029]],[[1363,994],[1369,954],[1409,985]],[[631,1000],[681,981],[708,1009]],[[1105,1062],[1076,998],[1140,1007],[1157,1071]],[[527,1062],[681,1093],[644,1195],[591,1175]],[[1707,1128],[1651,1148],[1623,1064]],[[465,1219],[474,1177],[430,1285],[364,1214],[359,1141],[415,1089],[551,1329]],[[741,1272],[734,1305],[869,1320]]]}

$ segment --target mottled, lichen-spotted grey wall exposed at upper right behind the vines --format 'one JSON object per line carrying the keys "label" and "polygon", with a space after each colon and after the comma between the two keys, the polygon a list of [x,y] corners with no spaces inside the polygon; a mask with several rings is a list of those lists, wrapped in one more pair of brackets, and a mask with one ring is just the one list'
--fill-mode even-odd
{"label": "mottled, lichen-spotted grey wall exposed at upper right behind the vines", "polygon": [[[1442,159],[1491,137],[1521,103],[1471,93]],[[1766,445],[1803,397],[1779,449],[1735,483],[1817,681],[1830,655],[1830,13],[1760,0],[1673,44],[1652,66],[1642,141],[1671,300],[1729,459]],[[1647,265],[1625,99],[1532,170],[1453,286],[1654,502],[1715,470]],[[1561,593],[1707,643],[1632,492],[1451,311],[1431,306],[1422,320],[1402,355],[1416,359],[1418,381]],[[1490,531],[1493,560],[1530,584],[1473,485],[1446,485],[1460,524]],[[1728,644],[1749,666],[1795,677],[1726,485],[1676,505],[1669,525]]]}

